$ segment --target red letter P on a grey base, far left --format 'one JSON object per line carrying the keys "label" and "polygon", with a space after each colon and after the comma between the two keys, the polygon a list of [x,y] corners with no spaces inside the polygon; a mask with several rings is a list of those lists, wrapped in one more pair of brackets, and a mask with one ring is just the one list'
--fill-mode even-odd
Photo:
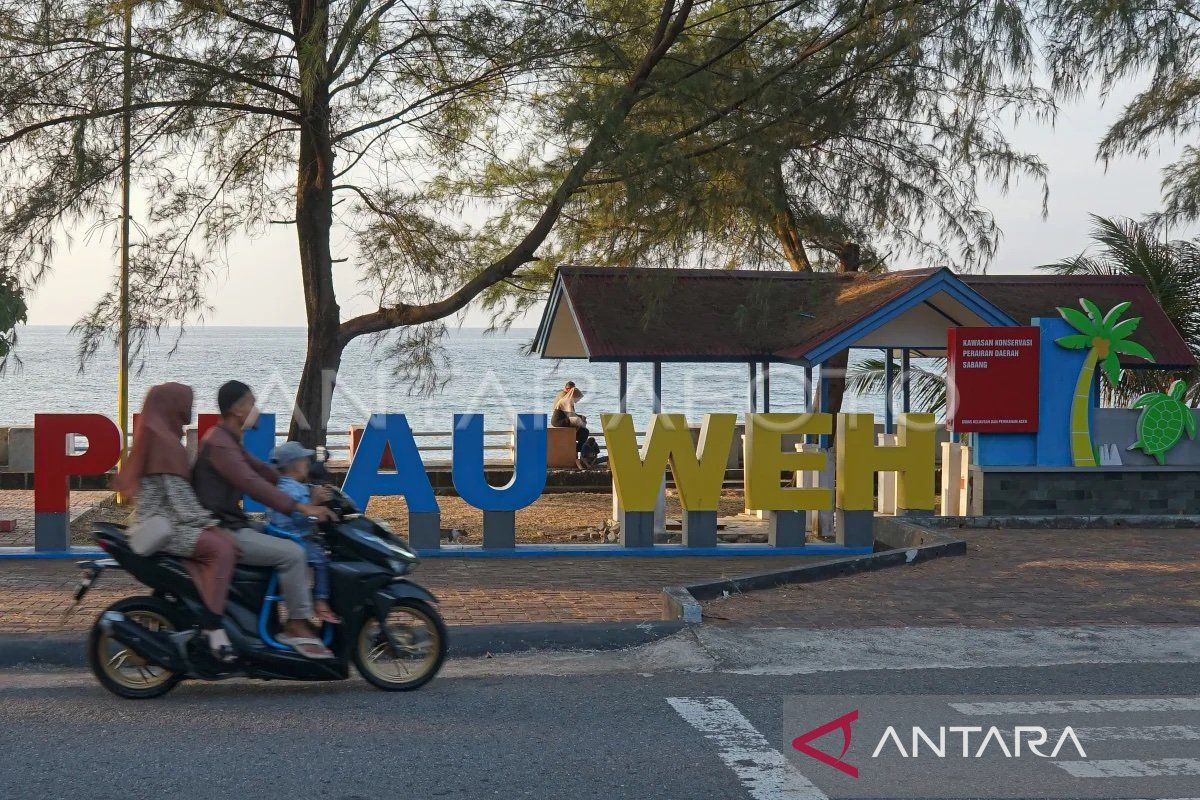
{"label": "red letter P on a grey base, far left", "polygon": [[[67,455],[67,437],[88,438],[88,450]],[[73,475],[103,475],[121,455],[121,432],[101,414],[34,415],[34,546],[38,551],[70,547],[67,512]]]}

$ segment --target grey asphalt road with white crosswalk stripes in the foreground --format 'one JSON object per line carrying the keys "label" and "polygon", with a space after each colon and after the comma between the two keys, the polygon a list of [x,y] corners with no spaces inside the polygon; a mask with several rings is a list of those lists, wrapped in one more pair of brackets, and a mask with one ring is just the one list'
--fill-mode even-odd
{"label": "grey asphalt road with white crosswalk stripes in the foreground", "polygon": [[[0,798],[1196,798],[1198,696],[1196,663],[568,675],[488,675],[476,663],[409,694],[356,679],[230,681],[142,703],[86,673],[10,669]],[[1030,706],[1034,697],[1066,704]],[[792,747],[851,709],[863,718],[844,758],[857,780]],[[929,726],[1044,726],[1051,744],[1075,726],[1091,732],[1091,752],[961,759],[952,739],[950,758],[906,762],[911,778],[881,795],[869,781],[898,772],[875,769],[877,729],[912,714]],[[811,744],[836,759],[840,736]],[[1068,760],[1076,766],[1054,763]]]}

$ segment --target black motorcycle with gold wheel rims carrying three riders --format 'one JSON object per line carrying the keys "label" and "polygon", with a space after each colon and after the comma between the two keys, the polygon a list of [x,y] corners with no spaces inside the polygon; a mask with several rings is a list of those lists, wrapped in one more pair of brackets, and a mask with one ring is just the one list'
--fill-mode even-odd
{"label": "black motorcycle with gold wheel rims carrying three riders", "polygon": [[330,606],[340,625],[325,625],[322,640],[334,658],[307,658],[281,644],[278,576],[271,567],[238,565],[223,627],[236,661],[212,657],[199,632],[200,600],[181,559],[138,555],[124,525],[92,533],[108,558],[80,561],[78,604],[104,571],[122,569],[150,595],[120,600],[97,618],[88,637],[88,663],[108,691],[130,699],[161,697],[187,679],[346,680],[350,663],[384,691],[410,691],[442,668],[446,628],[437,597],[407,576],[416,553],[379,521],[331,487],[326,504],[336,522],[319,535],[330,553]]}

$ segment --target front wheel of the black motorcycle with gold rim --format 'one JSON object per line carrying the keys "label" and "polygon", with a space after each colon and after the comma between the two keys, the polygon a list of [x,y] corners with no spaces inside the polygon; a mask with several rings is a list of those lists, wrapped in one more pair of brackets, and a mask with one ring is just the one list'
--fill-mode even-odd
{"label": "front wheel of the black motorcycle with gold rim", "polygon": [[437,610],[420,600],[400,600],[383,625],[391,642],[374,616],[359,628],[353,652],[359,674],[385,692],[408,692],[430,682],[446,655],[446,626]]}

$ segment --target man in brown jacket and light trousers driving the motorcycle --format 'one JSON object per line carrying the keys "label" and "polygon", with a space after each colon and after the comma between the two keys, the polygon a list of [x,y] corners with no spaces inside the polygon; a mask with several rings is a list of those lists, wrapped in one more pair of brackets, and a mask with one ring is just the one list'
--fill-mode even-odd
{"label": "man in brown jacket and light trousers driving the motorcycle", "polygon": [[320,643],[308,621],[313,603],[307,554],[293,541],[259,533],[242,511],[241,497],[248,494],[286,515],[299,512],[320,521],[332,521],[335,515],[325,506],[299,503],[282,492],[276,486],[280,473],[246,451],[241,432],[258,416],[250,386],[239,380],[228,381],[217,391],[217,408],[221,425],[204,435],[192,470],[196,497],[222,528],[233,531],[242,564],[278,570],[283,602],[288,607],[288,621],[278,640],[308,658],[331,658],[334,654]]}

